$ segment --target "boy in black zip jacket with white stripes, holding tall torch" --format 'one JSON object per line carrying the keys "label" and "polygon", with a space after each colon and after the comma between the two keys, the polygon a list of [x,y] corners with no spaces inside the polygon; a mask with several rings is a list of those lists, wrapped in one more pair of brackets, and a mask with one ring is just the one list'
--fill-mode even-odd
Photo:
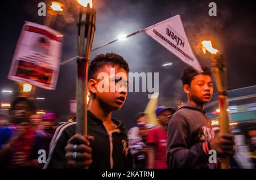
{"label": "boy in black zip jacket with white stripes, holding tall torch", "polygon": [[90,136],[76,134],[76,122],[57,128],[44,168],[130,168],[125,126],[112,119],[112,112],[126,100],[128,72],[120,55],[100,54],[92,60],[88,72]]}

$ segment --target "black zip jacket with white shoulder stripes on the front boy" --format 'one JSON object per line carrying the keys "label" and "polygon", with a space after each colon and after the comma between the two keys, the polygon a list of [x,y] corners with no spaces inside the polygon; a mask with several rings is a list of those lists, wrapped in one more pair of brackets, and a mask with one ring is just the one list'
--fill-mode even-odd
{"label": "black zip jacket with white shoulder stripes on the front boy", "polygon": [[[90,143],[93,162],[89,168],[131,167],[125,126],[116,119],[112,121],[117,125],[117,129],[108,134],[102,121],[88,110],[88,135],[94,136],[94,141]],[[76,122],[68,122],[57,128],[44,168],[67,168],[64,148],[75,134]]]}

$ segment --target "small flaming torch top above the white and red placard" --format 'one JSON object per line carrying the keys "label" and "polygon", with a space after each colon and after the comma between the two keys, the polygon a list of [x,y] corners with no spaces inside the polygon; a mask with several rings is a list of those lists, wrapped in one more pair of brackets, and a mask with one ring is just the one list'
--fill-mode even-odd
{"label": "small flaming torch top above the white and red placard", "polygon": [[64,5],[57,1],[52,1],[51,6],[48,8],[46,20],[44,24],[48,27],[54,22],[56,15],[63,11]]}

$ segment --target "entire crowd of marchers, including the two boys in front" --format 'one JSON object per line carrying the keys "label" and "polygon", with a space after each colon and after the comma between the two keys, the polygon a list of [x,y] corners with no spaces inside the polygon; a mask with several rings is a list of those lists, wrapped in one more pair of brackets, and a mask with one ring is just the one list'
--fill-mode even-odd
{"label": "entire crowd of marchers, including the two boys in front", "polygon": [[[115,69],[115,77],[110,75]],[[54,113],[35,113],[34,103],[18,97],[11,104],[10,117],[1,117],[1,168],[220,168],[222,157],[232,158],[236,148],[232,133],[214,132],[204,112],[204,104],[213,95],[210,70],[199,73],[188,67],[181,80],[188,101],[179,108],[158,106],[157,125],[138,113],[135,127],[128,132],[112,112],[122,108],[129,85],[129,65],[120,55],[97,55],[90,62],[88,89],[88,136],[76,134],[76,121],[57,127]],[[97,75],[109,75],[109,87],[115,92],[100,92]],[[57,128],[56,128],[57,127]],[[252,144],[255,133],[251,132]],[[39,150],[46,152],[46,162],[39,162]],[[209,161],[210,150],[217,160]]]}

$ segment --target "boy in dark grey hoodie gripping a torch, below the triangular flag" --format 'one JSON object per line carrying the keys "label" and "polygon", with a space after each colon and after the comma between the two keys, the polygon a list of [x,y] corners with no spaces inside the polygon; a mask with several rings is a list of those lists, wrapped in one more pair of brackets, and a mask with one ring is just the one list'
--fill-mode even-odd
{"label": "boy in dark grey hoodie gripping a torch, below the triangular flag", "polygon": [[188,67],[181,77],[183,90],[188,102],[172,115],[167,132],[167,164],[169,168],[216,168],[210,163],[209,150],[214,149],[217,156],[232,156],[234,136],[218,134],[214,131],[204,112],[204,104],[213,94],[213,83],[209,68],[202,74]]}

